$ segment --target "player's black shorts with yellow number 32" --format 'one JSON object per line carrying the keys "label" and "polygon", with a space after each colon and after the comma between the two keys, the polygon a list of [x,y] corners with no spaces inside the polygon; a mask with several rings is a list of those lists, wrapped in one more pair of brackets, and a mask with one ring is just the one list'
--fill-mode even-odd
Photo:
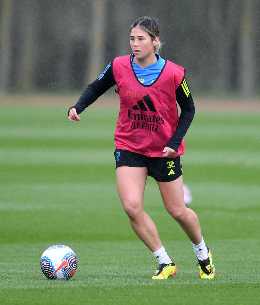
{"label": "player's black shorts with yellow number 32", "polygon": [[114,152],[116,168],[120,166],[147,167],[148,175],[158,182],[176,180],[182,175],[180,157],[157,158],[128,150],[116,149]]}

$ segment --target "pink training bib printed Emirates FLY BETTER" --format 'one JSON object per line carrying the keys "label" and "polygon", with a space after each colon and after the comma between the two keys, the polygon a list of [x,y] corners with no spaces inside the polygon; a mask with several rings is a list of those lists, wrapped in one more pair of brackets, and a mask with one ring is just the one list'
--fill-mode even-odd
{"label": "pink training bib printed Emirates FLY BETTER", "polygon": [[[115,147],[149,157],[163,157],[163,149],[179,122],[175,91],[184,77],[184,68],[166,61],[159,77],[149,86],[135,76],[131,55],[116,57],[113,75],[117,83],[120,111]],[[184,154],[182,140],[178,153]]]}

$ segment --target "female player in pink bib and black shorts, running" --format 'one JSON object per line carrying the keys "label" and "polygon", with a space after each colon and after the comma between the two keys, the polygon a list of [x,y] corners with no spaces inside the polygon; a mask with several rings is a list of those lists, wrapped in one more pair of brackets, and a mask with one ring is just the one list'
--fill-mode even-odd
{"label": "female player in pink bib and black shorts, running", "polygon": [[[195,107],[184,68],[160,57],[159,28],[150,17],[137,19],[130,28],[131,55],[116,57],[69,109],[69,120],[80,114],[110,87],[117,85],[120,112],[114,152],[117,188],[130,224],[157,258],[152,279],[167,279],[177,273],[157,228],[143,210],[147,175],[153,177],[169,214],[192,242],[200,277],[212,279],[215,267],[205,245],[197,215],[185,206],[180,155],[183,137],[194,117]],[[176,100],[181,108],[180,117]]]}

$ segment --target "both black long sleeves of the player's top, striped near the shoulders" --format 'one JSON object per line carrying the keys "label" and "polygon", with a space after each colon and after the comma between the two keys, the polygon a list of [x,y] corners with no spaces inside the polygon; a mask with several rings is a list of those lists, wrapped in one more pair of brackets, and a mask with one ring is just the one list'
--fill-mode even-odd
{"label": "both black long sleeves of the player's top, striped near the shoulders", "polygon": [[[109,68],[104,71],[103,76],[101,78],[96,79],[83,91],[78,102],[73,106],[78,114],[80,114],[86,107],[95,102],[109,88],[116,85],[112,65],[113,62],[111,63]],[[165,146],[174,149],[175,152],[178,152],[178,147],[181,144],[181,141],[185,136],[195,114],[195,106],[192,96],[190,92],[184,90],[185,87],[183,88],[181,84],[176,90],[176,100],[180,105],[181,109],[179,123],[174,135],[167,143],[165,143]]]}

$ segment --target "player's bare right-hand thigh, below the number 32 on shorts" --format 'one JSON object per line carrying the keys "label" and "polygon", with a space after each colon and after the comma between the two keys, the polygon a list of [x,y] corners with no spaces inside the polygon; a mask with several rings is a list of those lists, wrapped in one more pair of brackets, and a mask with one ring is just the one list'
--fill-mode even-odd
{"label": "player's bare right-hand thigh, below the number 32 on shorts", "polygon": [[182,175],[170,182],[158,182],[163,203],[170,214],[181,214],[185,211]]}

